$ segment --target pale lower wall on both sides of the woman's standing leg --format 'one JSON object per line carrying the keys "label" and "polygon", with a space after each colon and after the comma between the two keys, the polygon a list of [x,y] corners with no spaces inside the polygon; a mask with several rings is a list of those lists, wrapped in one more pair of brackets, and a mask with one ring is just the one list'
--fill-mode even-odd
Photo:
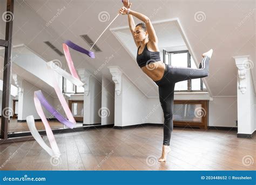
{"label": "pale lower wall on both sides of the woman's standing leg", "polygon": [[[115,94],[115,126],[163,124],[159,98],[147,98],[122,74],[122,93]],[[174,100],[210,100],[208,126],[237,127],[237,97],[214,97],[208,93],[175,93]]]}

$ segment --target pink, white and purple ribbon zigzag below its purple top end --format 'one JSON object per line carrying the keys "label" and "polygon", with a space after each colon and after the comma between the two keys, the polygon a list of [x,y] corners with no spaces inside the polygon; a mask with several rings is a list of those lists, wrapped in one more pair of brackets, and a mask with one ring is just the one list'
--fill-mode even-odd
{"label": "pink, white and purple ribbon zigzag below its purple top end", "polygon": [[[62,70],[62,68],[55,65],[52,61],[46,63],[46,66],[47,66],[47,69],[48,69],[48,74],[49,74],[50,78],[52,79],[53,88],[55,89],[56,94],[59,98],[60,104],[62,104],[64,112],[65,112],[65,114],[66,114],[66,116],[68,117],[69,120],[66,120],[59,113],[56,113],[55,117],[60,122],[62,122],[66,126],[68,126],[69,128],[73,128],[76,124],[76,120],[73,117],[73,115],[72,115],[72,113],[69,109],[69,106],[68,106],[68,104],[67,104],[67,102],[66,102],[66,100],[65,100],[65,98],[62,94],[62,91],[60,91],[60,88],[57,84],[57,80],[56,80],[56,77],[55,77],[55,73],[58,73],[60,76],[69,79],[71,81],[71,83],[73,83],[77,86],[83,86],[84,84],[82,83],[82,81],[80,81],[80,78],[77,74],[75,66],[73,65],[72,58],[70,56],[69,47],[65,43],[63,43],[63,50],[64,50],[64,53],[65,53],[66,61],[68,63],[71,75],[69,73],[67,73],[66,71]],[[43,97],[43,94],[42,94],[41,91],[37,91],[37,92],[34,93],[34,102],[35,102],[36,111],[37,111],[39,117],[41,118],[41,120],[43,121],[45,131],[46,131],[46,135],[49,139],[51,148],[48,145],[46,145],[46,143],[44,142],[44,140],[41,138],[40,134],[38,133],[38,131],[36,129],[36,126],[35,126],[35,120],[34,120],[32,115],[26,117],[26,121],[28,123],[30,132],[31,132],[32,136],[35,138],[35,140],[39,143],[39,145],[43,149],[45,149],[46,152],[49,153],[49,155],[59,157],[60,156],[59,148],[57,146],[57,143],[56,143],[55,137],[52,133],[49,122],[45,118],[45,115],[44,115],[43,108],[42,108],[41,104],[43,104],[43,106],[49,112],[52,112],[52,111],[57,112],[57,111],[56,111],[55,108],[53,108],[49,104],[49,102],[46,101],[46,99]]]}

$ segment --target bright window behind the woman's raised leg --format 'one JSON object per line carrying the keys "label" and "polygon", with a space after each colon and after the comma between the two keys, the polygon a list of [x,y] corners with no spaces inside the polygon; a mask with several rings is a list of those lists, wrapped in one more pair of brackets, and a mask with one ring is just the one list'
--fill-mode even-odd
{"label": "bright window behind the woman's raised leg", "polygon": [[[191,67],[198,68],[194,63],[188,50],[184,51],[163,51],[164,53],[164,63],[176,66],[176,67]],[[176,83],[174,91],[176,92],[195,92],[195,91],[206,91],[203,79],[192,79],[184,80]]]}

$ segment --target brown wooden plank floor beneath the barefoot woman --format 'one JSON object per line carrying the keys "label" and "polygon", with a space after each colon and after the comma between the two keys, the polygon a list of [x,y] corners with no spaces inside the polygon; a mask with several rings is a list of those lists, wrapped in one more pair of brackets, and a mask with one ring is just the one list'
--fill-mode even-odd
{"label": "brown wooden plank floor beneath the barefoot woman", "polygon": [[[60,160],[51,161],[36,141],[6,143],[0,145],[1,170],[256,169],[255,135],[242,139],[235,131],[174,128],[167,162],[157,161],[163,140],[159,126],[102,128],[55,136]],[[43,139],[49,145],[46,136]]]}

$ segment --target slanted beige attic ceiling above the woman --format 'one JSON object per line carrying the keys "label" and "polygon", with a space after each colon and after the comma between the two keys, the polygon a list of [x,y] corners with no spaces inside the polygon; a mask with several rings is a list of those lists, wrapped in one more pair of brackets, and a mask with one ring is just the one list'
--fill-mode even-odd
{"label": "slanted beige attic ceiling above the woman", "polygon": [[[14,44],[24,43],[49,61],[52,59],[63,61],[63,66],[65,66],[65,59],[49,50],[43,41],[49,40],[60,51],[62,51],[62,42],[65,39],[72,40],[85,49],[90,49],[80,35],[87,34],[92,40],[96,40],[111,20],[116,17],[118,9],[122,7],[119,0],[19,0],[18,2],[15,5]],[[211,48],[214,50],[210,61],[210,76],[205,78],[208,90],[213,96],[237,94],[237,67],[233,56],[250,55],[250,60],[256,66],[256,12],[253,11],[256,6],[254,0],[140,0],[132,3],[133,10],[144,13],[152,21],[178,18],[196,61],[200,61],[201,53]],[[3,12],[4,8],[5,3],[1,1],[0,10]],[[63,11],[61,11],[62,9]],[[56,17],[57,13],[59,15]],[[105,13],[106,19],[100,18],[103,13]],[[51,19],[54,20],[49,26],[46,26]],[[135,22],[137,24],[140,20],[135,18]],[[0,20],[0,24],[0,36],[3,37],[4,22]],[[110,29],[120,26],[127,26],[127,16],[119,16]],[[159,38],[164,38],[166,33],[172,34],[167,28],[163,27],[157,31]],[[130,36],[129,39],[132,40],[132,37]],[[168,40],[168,42],[172,43],[174,40]],[[110,30],[104,33],[97,45],[102,52],[96,53],[95,59],[71,51],[77,68],[86,68],[93,74],[112,56],[100,72],[94,75],[95,78],[100,79],[103,75],[111,80],[112,77],[107,66],[118,65],[145,94],[149,97],[157,97],[157,87],[140,70],[134,58]],[[255,67],[252,69],[252,74],[254,87],[256,87]]]}

